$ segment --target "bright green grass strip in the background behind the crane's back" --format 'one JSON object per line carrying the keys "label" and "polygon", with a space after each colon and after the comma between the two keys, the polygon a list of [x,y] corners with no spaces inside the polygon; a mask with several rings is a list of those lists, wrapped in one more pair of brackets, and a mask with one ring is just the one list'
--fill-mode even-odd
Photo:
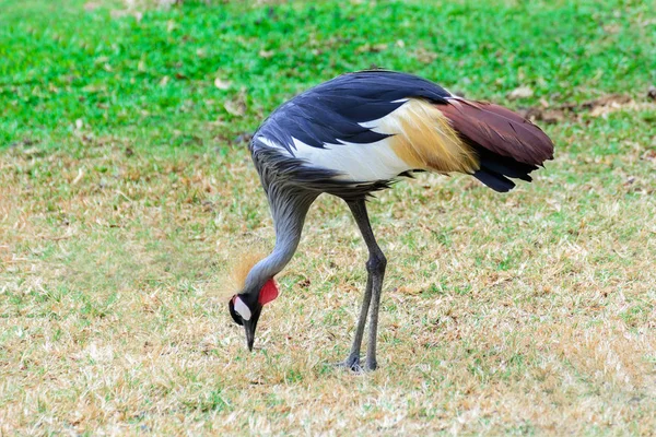
{"label": "bright green grass strip in the background behind the crane's back", "polygon": [[[641,25],[651,16],[643,2],[190,2],[140,20],[85,12],[73,1],[66,3],[78,8],[63,13],[46,13],[35,1],[26,9],[5,3],[3,143],[57,144],[77,120],[154,144],[233,140],[293,94],[371,66],[501,103],[519,85],[534,88],[525,102],[532,104],[642,92],[656,81],[656,48],[648,44],[656,35],[653,23]],[[216,88],[216,78],[230,87]],[[243,103],[244,117],[231,115],[225,102]]]}

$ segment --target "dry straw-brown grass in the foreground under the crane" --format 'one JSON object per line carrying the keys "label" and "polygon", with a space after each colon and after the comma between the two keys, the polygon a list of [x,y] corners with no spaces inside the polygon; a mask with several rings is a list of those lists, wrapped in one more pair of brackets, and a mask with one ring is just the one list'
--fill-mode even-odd
{"label": "dry straw-brown grass in the foreground under the crane", "polygon": [[243,149],[8,151],[0,429],[653,434],[654,144],[618,132],[621,153],[579,153],[605,123],[553,127],[555,162],[509,196],[421,176],[371,203],[390,262],[364,376],[327,365],[365,279],[341,202],[313,206],[249,354],[220,280],[231,253],[272,241]]}

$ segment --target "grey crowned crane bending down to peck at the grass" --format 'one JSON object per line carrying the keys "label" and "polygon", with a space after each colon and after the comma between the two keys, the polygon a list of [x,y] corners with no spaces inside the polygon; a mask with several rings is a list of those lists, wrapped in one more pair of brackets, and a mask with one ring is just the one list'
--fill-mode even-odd
{"label": "grey crowned crane bending down to peck at the grass", "polygon": [[[351,353],[342,363],[361,370],[367,315],[365,370],[376,368],[378,307],[387,260],[366,212],[367,197],[411,172],[465,173],[499,192],[530,181],[553,158],[540,128],[504,107],[468,101],[415,75],[385,70],[348,73],[281,105],[249,144],[269,200],[276,247],[248,265],[230,314],[253,350],[262,307],[278,296],[273,277],[294,255],[309,205],[326,192],[343,199],[368,249],[367,281]],[[247,272],[247,273],[246,273]]]}

